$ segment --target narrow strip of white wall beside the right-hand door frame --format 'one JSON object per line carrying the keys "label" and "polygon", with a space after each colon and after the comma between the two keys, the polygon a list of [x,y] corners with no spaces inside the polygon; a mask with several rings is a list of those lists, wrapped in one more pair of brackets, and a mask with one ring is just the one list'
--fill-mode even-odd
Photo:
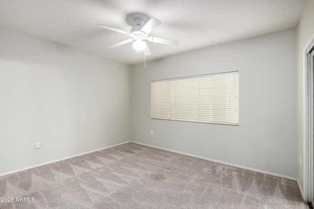
{"label": "narrow strip of white wall beside the right-hand door frame", "polygon": [[[314,34],[314,0],[305,2],[297,27],[297,158],[303,158],[303,48]],[[303,163],[297,164],[297,179],[303,191]]]}

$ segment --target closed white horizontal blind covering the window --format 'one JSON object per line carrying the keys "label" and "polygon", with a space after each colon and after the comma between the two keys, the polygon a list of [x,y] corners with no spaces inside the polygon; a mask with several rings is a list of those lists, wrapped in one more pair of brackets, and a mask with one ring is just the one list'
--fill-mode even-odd
{"label": "closed white horizontal blind covering the window", "polygon": [[238,125],[238,71],[152,81],[152,118]]}

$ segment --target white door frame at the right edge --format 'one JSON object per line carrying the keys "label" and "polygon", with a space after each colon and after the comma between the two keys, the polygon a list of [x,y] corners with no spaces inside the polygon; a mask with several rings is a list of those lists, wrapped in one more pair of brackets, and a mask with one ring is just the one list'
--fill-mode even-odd
{"label": "white door frame at the right edge", "polygon": [[313,149],[314,146],[314,72],[311,52],[314,49],[314,34],[303,49],[303,199],[313,202]]}

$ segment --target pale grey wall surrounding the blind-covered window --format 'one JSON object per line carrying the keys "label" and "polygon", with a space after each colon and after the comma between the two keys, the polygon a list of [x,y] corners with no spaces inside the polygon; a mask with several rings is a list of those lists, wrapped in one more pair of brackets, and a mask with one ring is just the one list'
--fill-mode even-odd
{"label": "pale grey wall surrounding the blind-covered window", "polygon": [[[239,126],[151,119],[152,80],[233,70]],[[135,65],[132,140],[295,178],[295,76],[295,28]]]}

